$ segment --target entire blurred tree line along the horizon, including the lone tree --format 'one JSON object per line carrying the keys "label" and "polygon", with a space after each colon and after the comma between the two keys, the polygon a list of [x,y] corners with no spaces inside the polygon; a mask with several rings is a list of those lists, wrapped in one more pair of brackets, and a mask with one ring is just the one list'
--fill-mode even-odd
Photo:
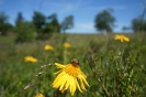
{"label": "entire blurred tree line along the horizon, including the lone tree", "polygon": [[[105,9],[96,15],[94,28],[97,31],[112,32],[116,21],[112,12],[113,9]],[[46,17],[38,11],[34,11],[31,21],[26,21],[21,12],[18,13],[14,25],[9,23],[8,20],[9,17],[4,12],[0,12],[0,34],[16,33],[16,42],[48,39],[53,33],[65,33],[66,30],[74,28],[74,15],[67,15],[59,23],[56,13]],[[146,31],[146,20],[142,18],[133,19],[131,26],[123,26],[123,30],[130,29],[134,32]]]}

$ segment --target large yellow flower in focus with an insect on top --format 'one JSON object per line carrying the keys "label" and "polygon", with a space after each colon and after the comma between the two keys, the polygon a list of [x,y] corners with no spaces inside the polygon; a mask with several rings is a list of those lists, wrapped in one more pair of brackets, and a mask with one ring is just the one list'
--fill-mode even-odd
{"label": "large yellow flower in focus with an insect on top", "polygon": [[69,88],[71,96],[74,96],[77,88],[82,93],[82,90],[86,90],[85,84],[89,86],[86,79],[87,76],[81,72],[79,62],[76,58],[71,61],[71,64],[61,65],[55,63],[55,65],[59,71],[55,73],[58,76],[53,82],[53,88],[57,89],[59,87],[61,93]]}

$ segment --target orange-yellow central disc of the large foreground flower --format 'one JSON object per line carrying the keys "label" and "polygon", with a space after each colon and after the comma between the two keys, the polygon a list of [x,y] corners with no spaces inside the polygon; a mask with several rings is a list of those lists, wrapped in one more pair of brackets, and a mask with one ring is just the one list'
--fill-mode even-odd
{"label": "orange-yellow central disc of the large foreground flower", "polygon": [[72,65],[72,64],[68,64],[66,67],[65,67],[65,72],[68,74],[68,75],[71,75],[74,77],[78,77],[79,73],[80,73],[80,68],[78,65]]}

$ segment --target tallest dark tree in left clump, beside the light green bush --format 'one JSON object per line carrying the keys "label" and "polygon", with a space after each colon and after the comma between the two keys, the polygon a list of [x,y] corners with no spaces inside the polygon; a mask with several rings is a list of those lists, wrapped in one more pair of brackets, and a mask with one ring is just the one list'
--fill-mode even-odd
{"label": "tallest dark tree in left clump, beside the light green bush", "polygon": [[34,11],[33,23],[36,28],[36,31],[42,32],[46,23],[46,17],[41,12]]}

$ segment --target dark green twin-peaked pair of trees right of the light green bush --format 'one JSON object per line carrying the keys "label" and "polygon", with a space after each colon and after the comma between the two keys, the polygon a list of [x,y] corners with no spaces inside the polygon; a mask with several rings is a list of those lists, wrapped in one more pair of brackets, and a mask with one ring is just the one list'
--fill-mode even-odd
{"label": "dark green twin-peaked pair of trees right of the light green bush", "polygon": [[37,32],[37,39],[40,40],[49,39],[52,33],[60,32],[60,25],[55,13],[49,17],[45,17],[43,13],[35,11],[33,15],[33,23]]}

